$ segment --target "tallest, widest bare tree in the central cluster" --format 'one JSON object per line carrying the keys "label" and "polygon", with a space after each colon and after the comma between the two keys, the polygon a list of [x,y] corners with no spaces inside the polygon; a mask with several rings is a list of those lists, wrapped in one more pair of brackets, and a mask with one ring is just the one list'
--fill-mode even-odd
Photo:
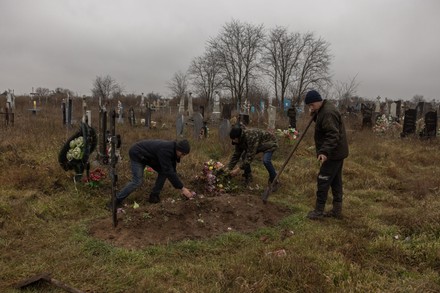
{"label": "tallest, widest bare tree in the central cluster", "polygon": [[248,97],[250,80],[257,73],[264,42],[263,26],[254,26],[233,20],[208,44],[220,63],[225,87],[241,105]]}

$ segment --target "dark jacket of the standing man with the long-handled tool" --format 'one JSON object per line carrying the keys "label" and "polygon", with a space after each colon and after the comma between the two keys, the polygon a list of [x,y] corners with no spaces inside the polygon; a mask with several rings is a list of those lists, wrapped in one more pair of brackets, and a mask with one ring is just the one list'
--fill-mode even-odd
{"label": "dark jacket of the standing man with the long-handled tool", "polygon": [[347,135],[338,109],[324,100],[315,122],[316,154],[324,154],[329,160],[343,160],[348,157]]}

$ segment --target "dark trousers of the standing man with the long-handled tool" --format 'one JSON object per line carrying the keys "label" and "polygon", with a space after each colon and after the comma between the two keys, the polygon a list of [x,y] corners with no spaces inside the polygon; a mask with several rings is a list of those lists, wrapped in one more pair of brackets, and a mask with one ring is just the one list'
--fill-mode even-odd
{"label": "dark trousers of the standing man with the long-handled tool", "polygon": [[324,208],[328,191],[332,188],[333,203],[342,203],[342,165],[344,160],[327,160],[319,170],[318,191],[316,203],[319,208]]}

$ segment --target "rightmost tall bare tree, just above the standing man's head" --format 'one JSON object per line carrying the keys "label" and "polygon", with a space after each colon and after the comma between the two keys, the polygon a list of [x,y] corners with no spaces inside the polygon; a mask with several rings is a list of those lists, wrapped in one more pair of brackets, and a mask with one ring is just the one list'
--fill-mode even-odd
{"label": "rightmost tall bare tree, just above the standing man's head", "polygon": [[293,98],[296,104],[302,101],[305,92],[311,88],[322,89],[331,82],[329,73],[332,56],[329,52],[330,44],[313,33],[303,36],[304,50],[301,54],[300,66],[295,72],[292,84]]}

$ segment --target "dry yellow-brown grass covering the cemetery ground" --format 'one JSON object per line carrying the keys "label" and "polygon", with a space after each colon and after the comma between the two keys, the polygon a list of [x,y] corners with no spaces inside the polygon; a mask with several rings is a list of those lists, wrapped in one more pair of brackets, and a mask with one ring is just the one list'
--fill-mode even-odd
{"label": "dry yellow-brown grass covering the cemetery ground", "polygon": [[[311,222],[305,215],[315,200],[318,165],[309,133],[285,169],[280,191],[270,198],[294,211],[279,226],[129,250],[88,235],[90,222],[108,216],[103,206],[109,188],[75,186],[72,174],[59,167],[58,151],[76,130],[61,125],[58,106],[48,105],[35,117],[28,106],[22,100],[14,127],[0,128],[2,292],[15,292],[15,282],[43,271],[88,292],[440,291],[438,140],[349,131],[345,218]],[[80,103],[75,106],[79,109]],[[141,138],[175,138],[174,116],[156,117],[169,130],[118,125],[123,155]],[[220,142],[215,126],[210,128],[207,141],[186,133],[193,151],[179,166],[184,181],[204,161],[227,161],[230,155],[229,142]],[[281,143],[274,155],[277,168],[290,148]],[[120,184],[125,183],[130,178],[126,157],[118,169]],[[255,180],[264,185],[261,164],[254,170]],[[175,193],[168,184],[163,192]],[[133,195],[144,197],[142,191]],[[287,255],[266,255],[280,249]],[[24,292],[57,292],[51,290]]]}

